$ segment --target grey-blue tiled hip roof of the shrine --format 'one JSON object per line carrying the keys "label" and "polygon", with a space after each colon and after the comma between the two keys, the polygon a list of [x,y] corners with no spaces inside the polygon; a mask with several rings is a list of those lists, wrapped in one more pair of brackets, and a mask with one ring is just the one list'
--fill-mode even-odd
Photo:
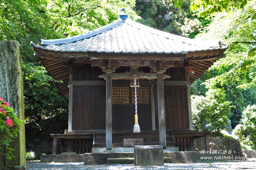
{"label": "grey-blue tiled hip roof of the shrine", "polygon": [[203,42],[153,29],[130,19],[119,19],[81,35],[39,40],[36,49],[54,52],[181,53],[222,50],[218,42]]}

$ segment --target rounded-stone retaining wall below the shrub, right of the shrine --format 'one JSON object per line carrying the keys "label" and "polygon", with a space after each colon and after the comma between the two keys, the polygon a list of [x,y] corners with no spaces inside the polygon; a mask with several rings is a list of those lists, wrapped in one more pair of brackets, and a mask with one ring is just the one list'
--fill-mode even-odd
{"label": "rounded-stone retaining wall below the shrub, right of the shrine", "polygon": [[[244,156],[239,139],[235,139],[232,137],[215,136],[209,137],[209,143],[211,152],[213,152],[213,150],[217,150],[218,152],[220,151],[221,153],[223,151],[229,152],[230,150],[232,150],[232,153],[229,155],[241,157]],[[204,137],[194,139],[194,149],[195,151],[198,152],[206,150]],[[226,154],[228,154],[228,152]]]}

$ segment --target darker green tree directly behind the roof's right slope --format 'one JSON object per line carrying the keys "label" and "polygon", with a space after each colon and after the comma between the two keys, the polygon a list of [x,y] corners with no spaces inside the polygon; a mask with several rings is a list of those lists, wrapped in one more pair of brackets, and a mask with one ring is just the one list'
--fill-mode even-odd
{"label": "darker green tree directly behind the roof's right slope", "polygon": [[190,0],[186,0],[181,8],[177,8],[168,0],[136,0],[134,10],[141,17],[138,21],[144,25],[194,38],[208,21],[193,15],[189,4]]}

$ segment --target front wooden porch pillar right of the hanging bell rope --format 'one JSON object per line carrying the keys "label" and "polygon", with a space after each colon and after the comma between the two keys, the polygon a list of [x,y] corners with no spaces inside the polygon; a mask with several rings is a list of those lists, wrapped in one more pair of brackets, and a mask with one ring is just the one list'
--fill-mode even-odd
{"label": "front wooden porch pillar right of the hanging bell rope", "polygon": [[162,145],[164,149],[166,149],[164,79],[162,73],[158,74],[156,85],[158,96],[159,144]]}

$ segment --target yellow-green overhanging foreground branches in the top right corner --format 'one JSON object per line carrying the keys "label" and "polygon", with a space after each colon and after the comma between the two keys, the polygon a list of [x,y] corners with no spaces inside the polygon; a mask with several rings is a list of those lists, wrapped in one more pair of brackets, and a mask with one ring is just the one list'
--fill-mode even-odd
{"label": "yellow-green overhanging foreground branches in the top right corner", "polygon": [[[173,0],[170,0],[170,1],[172,2]],[[186,1],[174,0],[174,6],[181,8],[182,3],[184,2]],[[234,30],[234,28],[236,28],[240,24],[255,22],[256,21],[255,6],[256,6],[255,0],[225,0],[225,1],[194,0],[190,4],[190,10],[193,12],[198,12],[197,15],[199,17],[212,15],[216,12],[223,13],[224,11],[228,13],[233,13],[234,11],[241,12],[241,14],[237,15],[236,18],[232,18],[234,19],[234,23],[230,25],[230,27],[228,28],[230,31],[230,30]],[[252,28],[254,29],[255,27],[252,27]],[[225,30],[225,29],[220,29],[220,30]],[[225,32],[225,33],[228,33],[228,32]],[[233,42],[235,44],[241,44],[242,46],[245,45],[249,47],[246,53],[247,58],[243,58],[242,62],[237,67],[237,69],[240,71],[245,71],[248,66],[255,64],[254,58],[256,57],[256,38],[255,38],[255,34],[251,34],[250,32],[251,30],[247,30],[247,29],[240,30],[241,35],[239,36],[239,38],[241,39],[244,38],[244,40]]]}

